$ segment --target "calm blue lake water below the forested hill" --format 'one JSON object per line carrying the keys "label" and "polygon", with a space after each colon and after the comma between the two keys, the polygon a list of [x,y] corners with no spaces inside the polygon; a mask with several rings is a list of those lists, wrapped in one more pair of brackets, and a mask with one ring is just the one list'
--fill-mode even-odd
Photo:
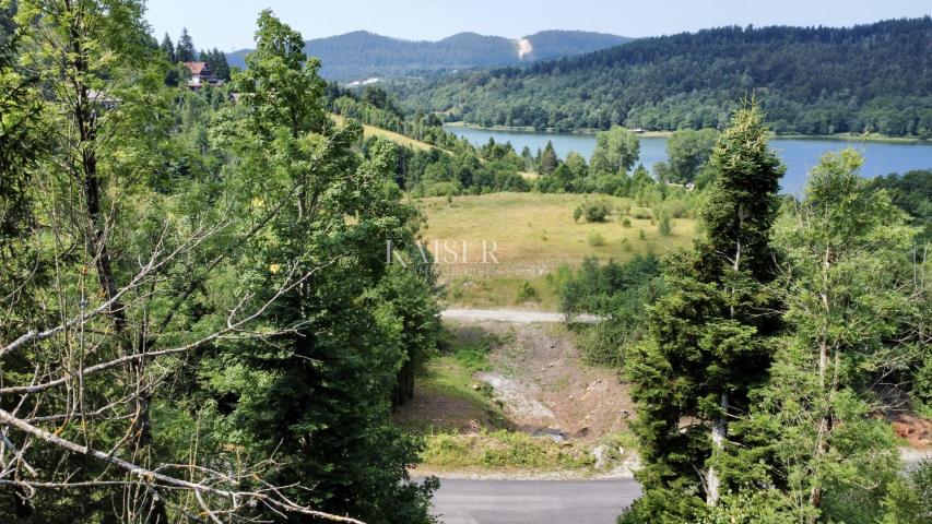
{"label": "calm blue lake water below the forested hill", "polygon": [[[475,145],[494,138],[496,142],[511,142],[519,154],[526,145],[536,153],[547,141],[553,142],[556,153],[566,157],[570,151],[582,154],[588,160],[595,148],[595,136],[591,134],[534,133],[522,131],[493,131],[487,129],[449,127],[447,131],[463,136]],[[823,139],[774,139],[770,146],[779,153],[787,165],[787,175],[781,181],[784,192],[799,194],[805,186],[809,171],[818,164],[819,157],[829,151],[853,146],[864,155],[861,175],[876,177],[910,169],[932,169],[932,143],[885,143],[858,142]],[[640,162],[648,169],[654,163],[666,160],[666,138],[641,136]]]}

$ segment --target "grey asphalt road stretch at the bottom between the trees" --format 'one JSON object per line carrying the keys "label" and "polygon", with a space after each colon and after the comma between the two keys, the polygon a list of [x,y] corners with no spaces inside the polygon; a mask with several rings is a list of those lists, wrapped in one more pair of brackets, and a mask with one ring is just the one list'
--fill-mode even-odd
{"label": "grey asphalt road stretch at the bottom between the trees", "polygon": [[440,479],[434,514],[446,524],[613,524],[637,481]]}

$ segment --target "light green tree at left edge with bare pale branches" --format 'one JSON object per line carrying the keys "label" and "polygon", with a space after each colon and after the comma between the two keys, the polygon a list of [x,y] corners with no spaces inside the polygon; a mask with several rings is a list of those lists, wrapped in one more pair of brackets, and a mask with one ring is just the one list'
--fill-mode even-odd
{"label": "light green tree at left edge with bare pale branches", "polygon": [[166,523],[263,508],[356,522],[283,498],[264,479],[268,456],[203,460],[216,450],[197,433],[165,445],[177,444],[166,427],[196,426],[156,420],[162,408],[184,410],[172,384],[185,359],[276,336],[252,331],[257,319],[309,275],[288,273],[264,299],[232,286],[194,305],[178,293],[192,261],[225,260],[219,253],[236,253],[253,225],[237,228],[226,206],[213,209],[236,194],[216,179],[210,198],[223,196],[207,205],[192,180],[163,184],[170,96],[142,11],[137,1],[21,0],[14,39],[30,68],[12,66],[2,41],[0,271],[13,276],[0,273],[3,517]]}

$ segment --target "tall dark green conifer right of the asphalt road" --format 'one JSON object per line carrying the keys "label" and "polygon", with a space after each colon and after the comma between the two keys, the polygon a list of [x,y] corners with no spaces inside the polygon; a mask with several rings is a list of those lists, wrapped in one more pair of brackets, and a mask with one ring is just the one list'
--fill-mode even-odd
{"label": "tall dark green conifer right of the asphalt road", "polygon": [[633,522],[694,520],[703,502],[715,505],[723,487],[753,469],[729,426],[747,416],[779,327],[762,291],[775,274],[769,238],[783,169],[762,121],[756,107],[736,111],[716,146],[706,233],[668,261],[670,293],[650,308],[648,335],[633,355],[645,461]]}

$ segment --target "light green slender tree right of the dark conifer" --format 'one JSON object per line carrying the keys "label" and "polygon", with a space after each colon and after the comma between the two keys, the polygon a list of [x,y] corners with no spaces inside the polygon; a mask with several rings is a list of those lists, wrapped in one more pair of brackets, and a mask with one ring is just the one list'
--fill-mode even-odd
{"label": "light green slender tree right of the dark conifer", "polygon": [[888,425],[869,416],[892,406],[869,386],[921,360],[929,343],[915,230],[869,190],[861,164],[850,148],[825,155],[776,227],[774,289],[789,330],[744,427],[772,469],[744,488],[777,486],[800,523],[885,512],[900,464]]}

